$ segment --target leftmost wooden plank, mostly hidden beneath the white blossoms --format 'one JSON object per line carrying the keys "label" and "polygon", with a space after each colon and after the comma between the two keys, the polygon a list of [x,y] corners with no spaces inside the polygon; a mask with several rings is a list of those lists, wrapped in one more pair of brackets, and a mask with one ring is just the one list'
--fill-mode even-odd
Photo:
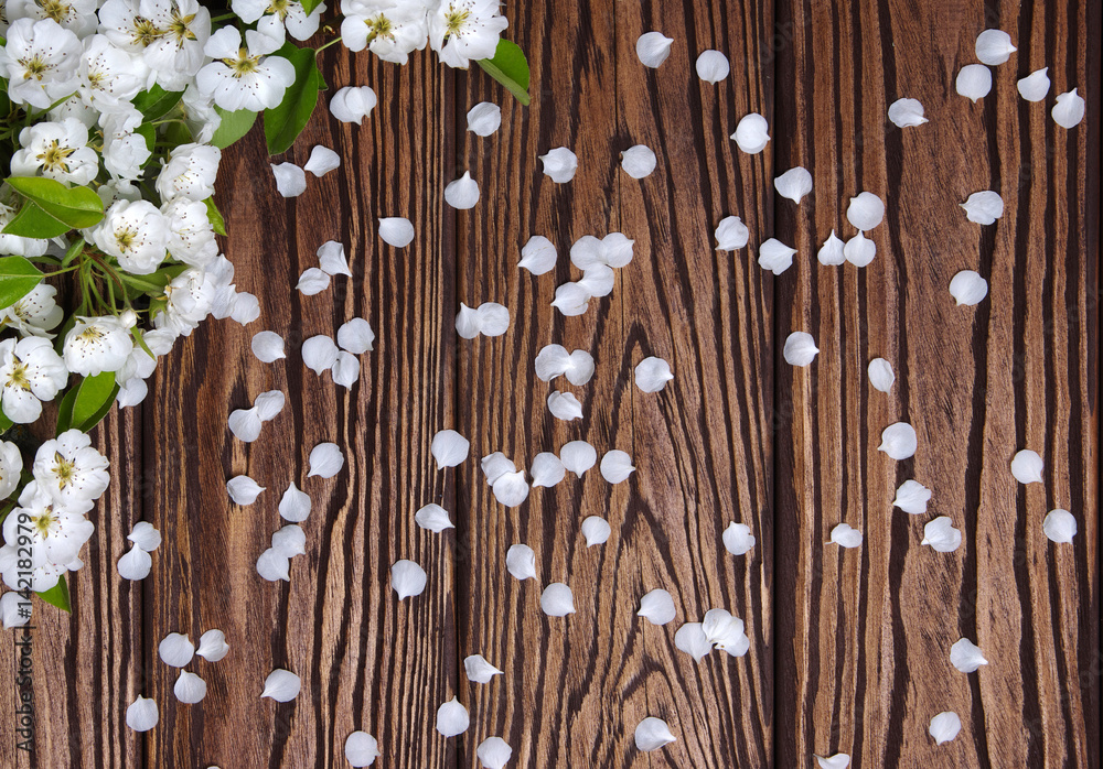
{"label": "leftmost wooden plank, mostly hidden beneath the white blossoms", "polygon": [[[32,599],[32,668],[22,671],[31,686],[17,680],[22,647],[15,641],[28,642],[22,629],[0,633],[0,766],[144,766],[140,740],[126,728],[126,708],[143,672],[141,587],[115,567],[150,490],[141,465],[141,407],[116,411],[93,432],[93,445],[111,463],[111,485],[88,513],[96,531],[81,552],[84,567],[68,575],[73,613]],[[35,443],[26,444],[25,463]],[[33,754],[17,749],[20,691],[34,701]]]}

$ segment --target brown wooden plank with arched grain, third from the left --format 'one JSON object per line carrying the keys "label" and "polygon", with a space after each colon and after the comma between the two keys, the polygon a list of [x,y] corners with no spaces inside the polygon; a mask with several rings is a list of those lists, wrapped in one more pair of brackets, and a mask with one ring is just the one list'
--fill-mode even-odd
{"label": "brown wooden plank with arched grain, third from the left", "polygon": [[[482,100],[502,104],[504,118],[488,139],[468,134],[461,161],[483,198],[458,217],[459,300],[496,301],[512,313],[504,337],[459,348],[461,432],[474,459],[502,451],[527,467],[538,452],[586,440],[599,456],[628,451],[639,467],[619,486],[595,467],[581,481],[533,489],[515,509],[494,500],[476,462],[460,476],[457,535],[467,555],[458,575],[460,657],[482,653],[505,671],[486,685],[461,683],[472,711],[463,766],[479,766],[475,748],[492,735],[510,743],[517,766],[769,762],[762,420],[771,396],[770,291],[739,260],[715,257],[710,242],[721,214],[739,213],[758,230],[769,212],[767,196],[739,194],[740,180],[768,177],[768,156],[726,170],[733,161],[722,126],[733,130],[748,104],[769,110],[762,73],[740,66],[768,29],[769,10],[748,9],[716,9],[695,20],[692,11],[660,12],[650,3],[642,14],[613,3],[507,3],[510,36],[527,52],[539,89],[533,105],[522,110],[484,77],[469,76],[465,101],[457,106],[461,128],[462,113]],[[649,29],[677,40],[655,74],[635,55],[635,40]],[[695,46],[725,48],[737,62],[740,79],[722,96],[698,91]],[[649,91],[656,101],[640,99]],[[619,167],[619,153],[638,142],[653,147],[662,164],[643,182]],[[579,167],[571,182],[556,185],[538,155],[560,145],[578,155]],[[557,285],[578,277],[568,261],[571,243],[618,230],[635,239],[635,259],[619,271],[610,297],[564,318],[549,303]],[[556,270],[543,277],[516,269],[533,235],[559,250]],[[675,260],[699,272],[679,275]],[[724,280],[730,288],[718,288]],[[533,360],[552,343],[590,351],[593,379],[579,388],[540,382]],[[695,360],[698,345],[708,354]],[[632,369],[647,355],[675,366],[677,379],[662,394],[644,396],[633,383]],[[576,393],[586,416],[554,420],[546,405],[554,389]],[[588,516],[611,524],[606,544],[586,548],[579,524]],[[746,560],[720,544],[732,519],[750,522],[761,538]],[[537,581],[508,575],[506,551],[516,543],[536,551]],[[540,593],[552,582],[572,588],[576,614],[542,614]],[[678,606],[677,620],[665,627],[635,616],[640,597],[656,587],[671,591]],[[747,618],[752,651],[742,660],[717,653],[695,667],[674,649],[674,632],[713,607]],[[647,715],[666,718],[678,743],[639,752],[633,734]]]}

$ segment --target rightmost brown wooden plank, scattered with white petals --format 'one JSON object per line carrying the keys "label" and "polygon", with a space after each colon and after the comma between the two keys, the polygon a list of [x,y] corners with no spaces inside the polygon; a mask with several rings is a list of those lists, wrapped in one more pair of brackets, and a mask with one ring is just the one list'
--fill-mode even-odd
{"label": "rightmost brown wooden plank, scattered with white petals", "polygon": [[[1097,79],[1088,40],[1099,7],[781,3],[779,22],[793,44],[778,63],[775,165],[807,167],[815,193],[778,202],[778,231],[800,251],[777,282],[778,338],[807,331],[822,350],[807,368],[778,368],[789,416],[777,467],[779,765],[835,751],[852,766],[1097,762],[1099,197],[1084,169],[1097,170],[1099,124],[1065,132],[1049,109]],[[954,78],[986,28],[1019,52],[973,105]],[[1016,79],[1041,66],[1051,97],[1028,104]],[[899,97],[922,101],[930,122],[889,123]],[[981,227],[957,204],[986,188],[1005,212]],[[820,266],[832,228],[853,235],[845,210],[863,189],[887,204],[875,261]],[[963,269],[989,282],[976,307],[949,294]],[[866,377],[878,356],[896,369],[888,394]],[[877,451],[897,420],[919,436],[901,463]],[[1045,484],[1010,476],[1024,447],[1045,457]],[[933,489],[928,515],[892,509],[907,478]],[[1072,545],[1042,533],[1056,507],[1080,522]],[[920,546],[939,515],[963,531],[955,553]],[[824,545],[844,521],[864,531],[861,549]],[[961,637],[990,661],[967,676],[949,660]],[[928,724],[941,711],[963,729],[935,747]]]}

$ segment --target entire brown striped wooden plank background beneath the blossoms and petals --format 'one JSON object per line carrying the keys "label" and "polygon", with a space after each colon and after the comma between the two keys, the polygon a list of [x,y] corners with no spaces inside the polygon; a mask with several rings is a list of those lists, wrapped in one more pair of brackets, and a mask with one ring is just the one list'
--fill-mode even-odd
{"label": "entire brown striped wooden plank background beneath the blossoms and petals", "polygon": [[[510,0],[504,10],[533,67],[529,108],[478,69],[427,55],[399,68],[335,46],[323,54],[331,86],[372,85],[379,107],[361,128],[320,111],[288,159],[301,164],[324,144],[340,171],[283,201],[259,131],[226,154],[226,253],[238,288],[261,297],[260,319],[205,324],[162,361],[144,404],[96,432],[116,480],[73,580],[74,614],[35,608],[38,751],[17,754],[9,732],[0,765],[346,766],[345,737],[365,729],[379,767],[478,767],[490,735],[513,746],[517,767],[804,767],[836,751],[855,767],[1097,767],[1100,4]],[[1019,51],[974,105],[953,82],[986,28]],[[649,30],[675,40],[657,71],[635,54]],[[732,63],[717,86],[694,73],[706,48]],[[1041,66],[1053,88],[1028,104],[1015,82]],[[1072,87],[1089,111],[1065,131],[1049,109]],[[902,96],[920,99],[930,123],[888,122]],[[464,115],[486,99],[503,106],[503,124],[481,139]],[[753,156],[727,138],[749,111],[773,137]],[[618,166],[635,143],[658,155],[639,182]],[[559,145],[579,159],[565,185],[537,160]],[[815,180],[800,206],[771,184],[794,165]],[[442,191],[464,170],[482,199],[454,212]],[[990,227],[957,208],[985,188],[1006,205]],[[863,189],[888,207],[871,232],[876,260],[820,266],[831,229],[852,234],[845,208]],[[714,250],[729,214],[750,227],[751,248]],[[411,219],[414,243],[384,246],[379,216]],[[635,239],[612,295],[580,317],[553,312],[556,285],[572,277],[570,243],[610,231]],[[516,269],[532,235],[558,246],[553,273]],[[799,250],[779,278],[754,263],[770,236]],[[297,277],[328,239],[345,243],[354,274],[302,296]],[[962,269],[989,280],[976,307],[955,307],[947,292]],[[459,339],[459,303],[488,301],[510,307],[508,333]],[[377,340],[345,391],[304,369],[298,347],[353,316]],[[288,339],[287,360],[249,354],[264,328]],[[822,349],[807,368],[781,357],[792,331]],[[580,422],[553,420],[545,398],[563,386],[535,378],[533,358],[553,342],[597,360],[593,380],[571,388]],[[647,355],[675,371],[660,394],[632,381]],[[878,356],[897,372],[888,394],[866,378]],[[274,388],[288,408],[256,443],[234,440],[229,412]],[[919,434],[902,463],[876,451],[897,420]],[[438,472],[428,447],[443,427],[471,438],[472,457]],[[629,452],[639,470],[610,486],[595,468],[516,509],[494,501],[479,457],[502,451],[527,466],[577,438]],[[344,447],[347,464],[308,480],[322,441]],[[1022,447],[1045,458],[1045,484],[1011,478]],[[268,487],[251,507],[225,494],[239,473]],[[910,477],[934,490],[929,516],[891,508]],[[290,584],[267,583],[255,562],[291,480],[314,503],[308,552]],[[416,527],[430,501],[454,530]],[[1079,521],[1072,545],[1042,533],[1054,507]],[[578,527],[590,515],[613,533],[587,549]],[[963,530],[957,552],[919,545],[935,515]],[[115,562],[138,520],[164,543],[150,577],[128,583]],[[732,520],[758,538],[746,556],[721,545]],[[824,545],[843,521],[864,531],[863,548]],[[505,551],[518,542],[536,551],[539,584],[507,575]],[[426,568],[429,586],[399,603],[388,570],[401,557]],[[549,582],[572,587],[577,614],[539,611]],[[656,587],[677,606],[665,627],[634,616]],[[675,650],[674,631],[714,607],[746,620],[750,652],[697,664]],[[225,631],[231,653],[196,659],[208,694],[179,705],[157,645],[210,628]],[[962,636],[990,660],[968,676],[949,664]],[[14,671],[12,638],[0,640],[0,678]],[[472,653],[505,675],[469,683],[461,660]],[[302,676],[293,702],[259,697],[278,667]],[[161,710],[146,735],[124,723],[138,694]],[[446,740],[435,713],[453,695],[472,723]],[[14,686],[0,687],[4,729],[14,707]],[[935,747],[927,726],[944,710],[963,729]],[[638,752],[633,730],[647,715],[678,741]]]}

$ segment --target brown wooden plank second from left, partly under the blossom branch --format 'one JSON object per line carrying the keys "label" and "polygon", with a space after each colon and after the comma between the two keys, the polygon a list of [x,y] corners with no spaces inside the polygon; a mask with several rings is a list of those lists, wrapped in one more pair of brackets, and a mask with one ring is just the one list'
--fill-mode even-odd
{"label": "brown wooden plank second from left, partly under the blossom branch", "polygon": [[[162,707],[146,746],[153,766],[331,766],[344,761],[355,729],[378,738],[377,766],[452,762],[431,717],[456,681],[451,555],[414,523],[420,505],[449,505],[452,494],[450,475],[429,455],[432,434],[454,421],[452,342],[442,333],[451,325],[452,236],[439,162],[450,152],[449,75],[426,56],[399,68],[339,48],[325,54],[324,72],[330,94],[372,84],[381,108],[360,128],[324,110],[314,116],[289,158],[302,164],[321,143],[341,154],[342,167],[309,176],[295,201],[277,195],[259,131],[226,154],[227,253],[238,289],[261,297],[260,319],[196,332],[153,387],[147,458],[160,480],[153,517],[167,539],[148,596],[150,695]],[[376,218],[390,215],[417,229],[400,251],[376,235]],[[303,296],[298,275],[318,264],[315,250],[329,239],[344,242],[353,275]],[[345,391],[307,370],[299,347],[353,316],[367,318],[377,338]],[[286,360],[268,366],[248,353],[264,328],[287,337]],[[285,391],[287,407],[259,441],[242,444],[226,419],[269,389]],[[330,480],[308,479],[309,453],[326,441],[342,447],[345,467]],[[268,489],[251,507],[225,492],[242,473]],[[255,564],[285,523],[277,505],[291,480],[313,501],[307,554],[292,562],[290,584],[267,583]],[[399,603],[389,570],[406,557],[425,567],[429,584]],[[208,694],[178,705],[176,671],[157,660],[157,643],[212,627],[226,632],[229,657],[193,664]],[[275,668],[301,676],[293,702],[260,698]]]}

